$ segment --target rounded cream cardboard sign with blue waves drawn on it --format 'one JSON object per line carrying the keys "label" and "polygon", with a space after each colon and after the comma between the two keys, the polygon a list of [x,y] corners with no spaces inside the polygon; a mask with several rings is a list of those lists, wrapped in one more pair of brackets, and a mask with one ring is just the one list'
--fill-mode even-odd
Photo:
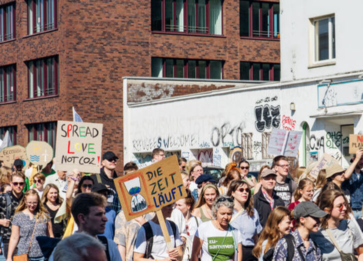
{"label": "rounded cream cardboard sign with blue waves drawn on it", "polygon": [[53,148],[45,141],[32,140],[25,149],[27,158],[34,165],[46,165],[53,158]]}

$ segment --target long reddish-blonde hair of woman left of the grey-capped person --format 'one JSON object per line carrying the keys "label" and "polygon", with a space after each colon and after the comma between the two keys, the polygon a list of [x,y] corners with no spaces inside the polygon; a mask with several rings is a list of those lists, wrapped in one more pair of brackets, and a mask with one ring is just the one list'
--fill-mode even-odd
{"label": "long reddish-blonde hair of woman left of the grey-capped person", "polygon": [[271,247],[275,247],[277,242],[280,240],[280,229],[279,224],[284,219],[285,216],[289,216],[291,218],[291,212],[285,206],[277,206],[272,210],[272,212],[267,217],[266,225],[261,232],[260,237],[258,238],[258,242],[256,246],[253,248],[252,253],[257,258],[260,257],[262,251],[262,243],[267,239],[267,244],[265,247],[265,254],[267,250]]}

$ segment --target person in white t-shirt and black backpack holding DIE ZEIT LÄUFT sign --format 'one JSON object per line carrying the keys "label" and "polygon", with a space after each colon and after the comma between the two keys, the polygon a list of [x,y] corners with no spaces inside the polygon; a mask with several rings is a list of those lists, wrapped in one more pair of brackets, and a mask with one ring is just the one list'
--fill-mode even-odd
{"label": "person in white t-shirt and black backpack holding DIE ZEIT L\u00c4UFT sign", "polygon": [[[163,206],[161,212],[163,218],[171,216],[172,204]],[[168,250],[165,237],[162,233],[158,217],[155,215],[150,221],[144,223],[137,232],[134,261],[144,261],[150,258],[155,261],[181,261],[183,258],[183,241],[179,229],[173,221],[165,220],[171,243],[174,246]]]}

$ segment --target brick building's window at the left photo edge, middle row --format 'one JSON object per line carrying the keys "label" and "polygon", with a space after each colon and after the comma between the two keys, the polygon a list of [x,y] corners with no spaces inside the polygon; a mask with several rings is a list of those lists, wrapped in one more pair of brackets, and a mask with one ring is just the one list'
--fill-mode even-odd
{"label": "brick building's window at the left photo edge, middle row", "polygon": [[0,67],[0,102],[15,100],[15,64]]}

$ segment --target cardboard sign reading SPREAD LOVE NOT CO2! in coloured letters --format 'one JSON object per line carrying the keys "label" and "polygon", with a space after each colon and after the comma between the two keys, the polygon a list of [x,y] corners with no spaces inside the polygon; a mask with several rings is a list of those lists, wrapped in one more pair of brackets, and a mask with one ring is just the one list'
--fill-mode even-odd
{"label": "cardboard sign reading SPREAD LOVE NOT CO2! in coloured letters", "polygon": [[102,126],[58,120],[55,147],[55,169],[99,173],[101,167]]}

